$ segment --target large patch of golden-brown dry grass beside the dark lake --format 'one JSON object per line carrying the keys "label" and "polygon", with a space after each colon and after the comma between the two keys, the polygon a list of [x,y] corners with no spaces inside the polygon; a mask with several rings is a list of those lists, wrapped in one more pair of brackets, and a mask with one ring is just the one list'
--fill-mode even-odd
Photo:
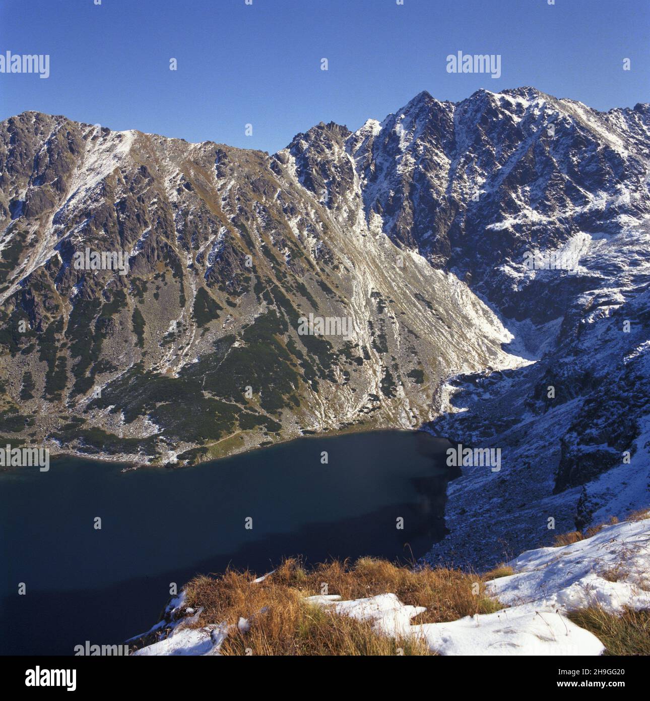
{"label": "large patch of golden-brown dry grass beside the dark lake", "polygon": [[392,592],[403,604],[425,606],[413,623],[457,620],[502,608],[485,594],[483,578],[455,570],[413,571],[385,560],[364,557],[354,564],[328,562],[307,571],[288,559],[260,583],[247,572],[200,576],[186,586],[187,604],[204,607],[195,625],[250,622],[248,632],[232,632],[223,643],[225,655],[404,655],[429,654],[418,641],[375,634],[371,622],[334,615],[307,604],[314,594],[340,594],[359,599]]}

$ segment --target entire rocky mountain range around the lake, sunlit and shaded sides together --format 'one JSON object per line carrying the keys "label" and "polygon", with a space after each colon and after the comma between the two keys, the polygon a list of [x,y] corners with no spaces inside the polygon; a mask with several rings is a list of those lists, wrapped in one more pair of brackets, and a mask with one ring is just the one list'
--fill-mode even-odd
{"label": "entire rocky mountain range around the lake, sunlit and shaded sides together", "polygon": [[[547,515],[588,522],[625,493],[601,484],[619,466],[637,480],[623,508],[649,463],[649,155],[647,104],[600,113],[533,88],[420,93],[272,156],[10,118],[0,433],[182,464],[434,421],[504,451],[501,472],[452,486],[458,538],[497,502],[510,538],[526,509],[536,538]],[[92,269],[95,252],[127,271]],[[328,335],[300,333],[310,314]]]}

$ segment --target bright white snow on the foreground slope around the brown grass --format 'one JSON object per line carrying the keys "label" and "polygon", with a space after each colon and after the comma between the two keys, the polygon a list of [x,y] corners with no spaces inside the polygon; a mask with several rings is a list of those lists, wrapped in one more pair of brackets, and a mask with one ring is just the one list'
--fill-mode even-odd
{"label": "bright white snow on the foreground slope around the brown grass", "polygon": [[[650,512],[636,522],[604,526],[572,545],[529,550],[509,564],[513,575],[487,585],[508,608],[452,622],[411,625],[426,609],[405,605],[391,593],[350,601],[332,594],[305,601],[337,615],[370,620],[378,634],[424,640],[441,655],[600,655],[602,642],[565,614],[588,606],[601,606],[608,613],[650,608]],[[181,596],[167,612],[183,606]],[[191,618],[179,620],[170,637],[134,654],[218,655],[228,626],[222,622],[188,628],[198,614],[193,609],[186,613]],[[240,619],[237,627],[245,630],[248,625]]]}

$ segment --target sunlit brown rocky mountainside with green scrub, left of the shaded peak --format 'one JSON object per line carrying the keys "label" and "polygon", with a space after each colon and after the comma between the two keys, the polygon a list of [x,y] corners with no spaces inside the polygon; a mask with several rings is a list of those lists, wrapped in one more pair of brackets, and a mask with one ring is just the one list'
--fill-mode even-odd
{"label": "sunlit brown rocky mountainside with green scrub, left of the shaded peak", "polygon": [[[43,114],[4,122],[3,433],[187,463],[414,428],[450,373],[516,364],[455,275],[371,233],[347,135],[319,125],[270,157]],[[125,253],[128,270],[78,268],[79,252]],[[350,331],[300,334],[310,314]]]}

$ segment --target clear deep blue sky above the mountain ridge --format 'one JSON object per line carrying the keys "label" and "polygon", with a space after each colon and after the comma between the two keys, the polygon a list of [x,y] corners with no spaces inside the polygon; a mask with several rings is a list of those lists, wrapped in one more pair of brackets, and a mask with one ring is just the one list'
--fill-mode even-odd
{"label": "clear deep blue sky above the mountain ridge", "polygon": [[[265,151],[319,121],[381,120],[420,90],[650,102],[649,0],[2,0],[6,50],[50,54],[50,77],[0,74],[2,119],[34,109]],[[501,54],[502,76],[448,74],[458,50]]]}

